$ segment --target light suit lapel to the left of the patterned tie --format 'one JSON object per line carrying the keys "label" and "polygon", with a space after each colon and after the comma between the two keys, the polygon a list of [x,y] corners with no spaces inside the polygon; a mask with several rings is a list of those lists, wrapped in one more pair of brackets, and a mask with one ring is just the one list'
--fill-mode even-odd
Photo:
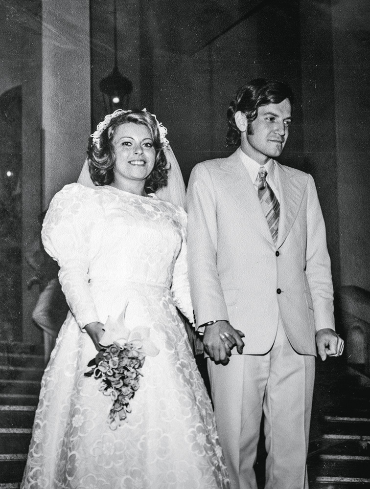
{"label": "light suit lapel to the left of the patterned tie", "polygon": [[231,197],[246,215],[246,228],[254,227],[270,244],[274,245],[254,184],[237,153],[225,158],[219,170],[223,173],[222,178]]}

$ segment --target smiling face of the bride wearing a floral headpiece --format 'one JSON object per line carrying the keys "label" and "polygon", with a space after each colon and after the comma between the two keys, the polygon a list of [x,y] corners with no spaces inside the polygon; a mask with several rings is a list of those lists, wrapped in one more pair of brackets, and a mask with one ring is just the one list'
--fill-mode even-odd
{"label": "smiling face of the bride wearing a floral headpiece", "polygon": [[112,144],[116,155],[115,180],[146,180],[156,158],[149,129],[133,122],[122,124],[117,128]]}

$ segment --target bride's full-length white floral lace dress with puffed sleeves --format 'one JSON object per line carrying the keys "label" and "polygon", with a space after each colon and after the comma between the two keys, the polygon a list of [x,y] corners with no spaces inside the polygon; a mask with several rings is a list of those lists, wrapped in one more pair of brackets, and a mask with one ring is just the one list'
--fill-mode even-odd
{"label": "bride's full-length white floral lace dress with puffed sleeves", "polygon": [[[22,488],[226,489],[212,407],[178,307],[192,308],[181,207],[110,186],[64,187],[43,226],[70,310],[46,368]],[[150,326],[127,423],[109,427],[111,400],[84,376],[95,356],[83,326],[115,318]]]}

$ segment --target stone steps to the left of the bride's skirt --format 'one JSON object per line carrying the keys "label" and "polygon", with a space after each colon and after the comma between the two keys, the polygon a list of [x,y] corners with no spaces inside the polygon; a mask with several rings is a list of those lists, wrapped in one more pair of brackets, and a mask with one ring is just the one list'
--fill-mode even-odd
{"label": "stone steps to the left of the bride's skirt", "polygon": [[0,342],[0,488],[19,488],[44,372],[43,347]]}

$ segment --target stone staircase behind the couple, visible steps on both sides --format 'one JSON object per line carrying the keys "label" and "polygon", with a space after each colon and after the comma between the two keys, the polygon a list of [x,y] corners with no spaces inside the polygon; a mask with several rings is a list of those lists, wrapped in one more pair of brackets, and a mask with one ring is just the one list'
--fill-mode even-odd
{"label": "stone staircase behind the couple, visible steps on both sides", "polygon": [[[370,379],[328,360],[317,360],[310,489],[370,488]],[[0,489],[20,487],[43,371],[42,346],[0,342]],[[263,453],[259,465],[262,488]]]}

